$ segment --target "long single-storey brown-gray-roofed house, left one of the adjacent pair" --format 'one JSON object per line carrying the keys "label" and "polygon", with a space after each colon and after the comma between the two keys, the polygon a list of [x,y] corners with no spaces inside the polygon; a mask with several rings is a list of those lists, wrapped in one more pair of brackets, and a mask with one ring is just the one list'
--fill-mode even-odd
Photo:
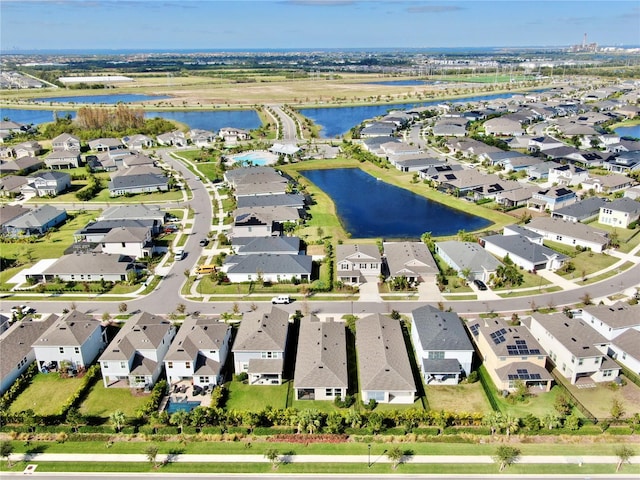
{"label": "long single-storey brown-gray-roofed house, left one of the adjacent pair", "polygon": [[347,396],[349,375],[343,322],[321,322],[315,315],[301,319],[293,388],[296,400],[333,401]]}

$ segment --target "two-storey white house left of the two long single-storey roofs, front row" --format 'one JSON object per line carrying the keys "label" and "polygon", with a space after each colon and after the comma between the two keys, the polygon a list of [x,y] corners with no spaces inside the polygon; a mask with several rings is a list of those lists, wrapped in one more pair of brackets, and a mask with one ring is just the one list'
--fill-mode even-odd
{"label": "two-storey white house left of the two long single-storey roofs, front row", "polygon": [[289,313],[245,314],[233,342],[235,373],[247,373],[250,385],[280,385],[289,335]]}

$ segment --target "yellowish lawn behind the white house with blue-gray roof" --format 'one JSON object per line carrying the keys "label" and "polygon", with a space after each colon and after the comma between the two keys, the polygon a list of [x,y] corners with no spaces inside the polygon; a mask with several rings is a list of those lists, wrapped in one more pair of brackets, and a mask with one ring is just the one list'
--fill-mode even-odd
{"label": "yellowish lawn behind the white house with blue-gray roof", "polygon": [[427,385],[425,390],[431,410],[468,413],[492,412],[480,382],[460,385]]}

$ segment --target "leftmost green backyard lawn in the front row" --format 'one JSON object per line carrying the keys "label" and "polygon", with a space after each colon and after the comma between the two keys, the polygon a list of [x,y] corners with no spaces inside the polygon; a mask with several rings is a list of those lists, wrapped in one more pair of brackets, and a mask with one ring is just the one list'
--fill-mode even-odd
{"label": "leftmost green backyard lawn in the front row", "polygon": [[60,378],[57,373],[38,373],[11,404],[11,412],[33,410],[36,415],[55,415],[80,387],[80,378]]}

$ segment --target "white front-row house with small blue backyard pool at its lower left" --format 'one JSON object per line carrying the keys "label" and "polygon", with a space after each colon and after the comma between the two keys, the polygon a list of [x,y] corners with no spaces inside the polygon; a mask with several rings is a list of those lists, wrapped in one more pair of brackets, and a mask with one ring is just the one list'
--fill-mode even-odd
{"label": "white front-row house with small blue backyard pool at its lower left", "polygon": [[199,387],[222,384],[230,347],[230,325],[211,317],[187,317],[164,357],[167,380]]}

